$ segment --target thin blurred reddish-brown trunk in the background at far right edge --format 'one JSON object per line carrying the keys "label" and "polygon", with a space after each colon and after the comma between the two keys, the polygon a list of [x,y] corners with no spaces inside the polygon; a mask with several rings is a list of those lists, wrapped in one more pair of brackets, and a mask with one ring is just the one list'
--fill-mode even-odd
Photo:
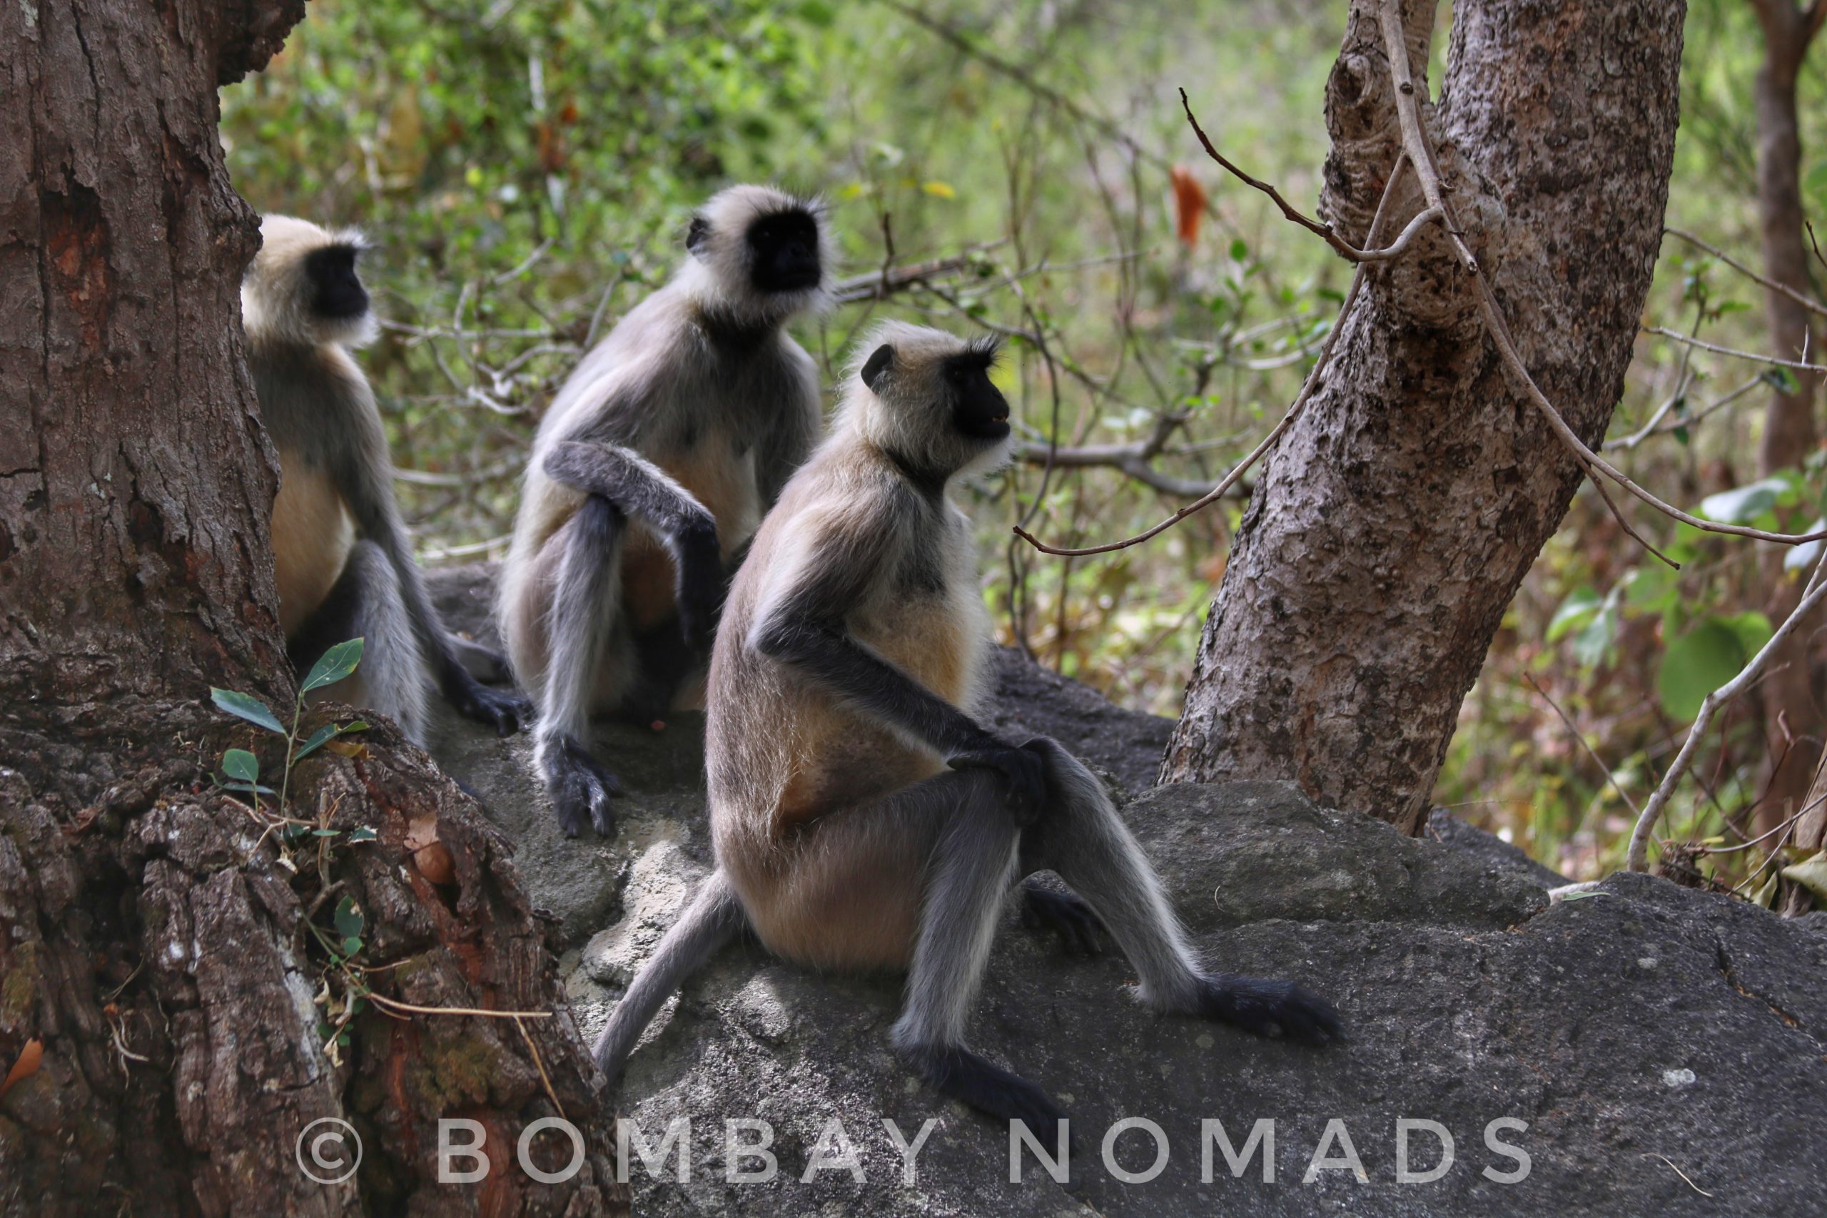
{"label": "thin blurred reddish-brown trunk in the background at far right edge", "polygon": [[[1796,117],[1796,79],[1827,5],[1809,11],[1790,0],[1752,0],[1763,26],[1763,66],[1754,86],[1758,110],[1758,225],[1763,237],[1763,274],[1809,294],[1809,263],[1801,214],[1801,128]],[[1770,351],[1789,360],[1820,354],[1809,331],[1809,310],[1792,296],[1765,290]],[[1769,477],[1798,467],[1814,451],[1812,373],[1798,373],[1794,393],[1770,394],[1763,415],[1758,473]],[[1801,601],[1801,584],[1783,570],[1785,548],[1770,548],[1761,572],[1770,586],[1765,604],[1770,625],[1781,625]],[[1822,756],[1822,712],[1814,701],[1811,630],[1800,630],[1770,657],[1770,676],[1758,687],[1769,741],[1770,771],[1758,805],[1759,831],[1789,820],[1803,803]]]}

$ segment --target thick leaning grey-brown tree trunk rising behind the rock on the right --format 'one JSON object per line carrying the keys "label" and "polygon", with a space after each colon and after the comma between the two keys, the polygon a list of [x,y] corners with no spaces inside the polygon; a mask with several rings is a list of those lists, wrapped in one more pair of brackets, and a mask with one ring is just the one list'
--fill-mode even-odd
{"label": "thick leaning grey-brown tree trunk rising behind the rock on the right", "polygon": [[[1399,150],[1376,11],[1354,0],[1326,88],[1321,208],[1354,243]],[[1683,13],[1462,0],[1425,119],[1524,360],[1593,446],[1661,241]],[[1421,80],[1434,4],[1403,16]],[[1389,232],[1420,210],[1412,184],[1392,206]],[[1292,778],[1418,833],[1460,701],[1579,482],[1429,230],[1368,274],[1323,387],[1268,458],[1162,780]]]}

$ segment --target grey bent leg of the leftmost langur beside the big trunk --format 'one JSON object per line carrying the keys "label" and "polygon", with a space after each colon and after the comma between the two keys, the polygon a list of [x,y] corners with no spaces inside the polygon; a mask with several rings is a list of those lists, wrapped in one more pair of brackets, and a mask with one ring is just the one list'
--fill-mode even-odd
{"label": "grey bent leg of the leftmost langur beside the big trunk", "polygon": [[354,676],[312,698],[347,701],[385,714],[415,745],[426,743],[429,674],[387,555],[369,541],[349,551],[342,575],[323,604],[287,645],[303,677],[336,643],[364,639]]}

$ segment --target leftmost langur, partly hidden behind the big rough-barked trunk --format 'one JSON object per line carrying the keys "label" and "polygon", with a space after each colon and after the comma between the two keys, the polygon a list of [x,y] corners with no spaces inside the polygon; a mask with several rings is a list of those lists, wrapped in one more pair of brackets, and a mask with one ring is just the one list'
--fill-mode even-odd
{"label": "leftmost langur, partly hidden behind the big rough-barked trunk", "polygon": [[272,559],[292,665],[303,674],[331,645],[362,637],[360,668],[329,696],[380,710],[420,745],[433,685],[464,716],[502,736],[517,730],[532,705],[481,685],[459,661],[393,499],[375,393],[349,354],[376,329],[354,267],[362,234],[269,215],[259,236],[241,279],[241,327],[280,451]]}

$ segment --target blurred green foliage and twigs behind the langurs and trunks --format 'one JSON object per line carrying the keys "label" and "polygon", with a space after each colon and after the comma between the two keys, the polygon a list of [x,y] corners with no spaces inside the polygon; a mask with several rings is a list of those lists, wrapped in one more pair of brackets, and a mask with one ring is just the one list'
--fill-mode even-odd
{"label": "blurred green foliage and twigs behind the langurs and trunks", "polygon": [[[378,243],[364,274],[385,331],[362,362],[426,562],[502,551],[552,389],[665,281],[691,208],[745,179],[831,203],[855,292],[890,261],[952,259],[923,289],[806,327],[828,369],[873,316],[992,327],[1010,338],[1001,376],[1036,449],[1142,440],[1184,413],[1155,467],[1209,482],[1292,400],[1348,267],[1202,157],[1177,89],[1219,148],[1312,210],[1343,18],[1343,0],[314,0],[265,73],[223,89],[223,139],[258,210]],[[1449,27],[1443,5],[1436,91]],[[1695,0],[1668,223],[1750,265],[1759,55],[1745,0]],[[1801,82],[1805,206],[1820,217],[1823,60],[1816,49]],[[1209,203],[1191,241],[1171,166]],[[1644,320],[1769,349],[1761,290],[1674,237]],[[1684,506],[1805,526],[1822,508],[1818,455],[1743,489],[1763,371],[1644,336],[1613,436],[1672,398],[1666,420],[1684,425],[1615,458]],[[1003,641],[1175,714],[1242,502],[1076,562],[1009,530],[1113,541],[1169,515],[1178,489],[1036,462],[985,486],[985,599]],[[1646,561],[1584,488],[1505,617],[1436,791],[1575,878],[1619,862],[1628,807],[1547,699],[1641,803],[1699,696],[1769,634],[1756,546],[1633,519],[1684,570]],[[1664,827],[1739,840],[1765,761],[1761,730],[1734,710]],[[1750,862],[1723,853],[1701,869],[1743,886]]]}

